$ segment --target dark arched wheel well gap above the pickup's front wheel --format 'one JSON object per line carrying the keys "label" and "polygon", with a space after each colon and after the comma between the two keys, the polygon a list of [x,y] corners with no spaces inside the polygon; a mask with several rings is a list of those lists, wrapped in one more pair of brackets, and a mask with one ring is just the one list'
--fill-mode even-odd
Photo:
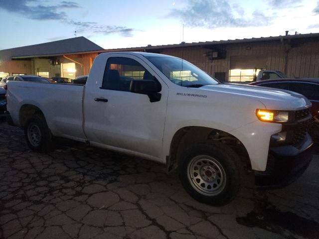
{"label": "dark arched wheel well gap above the pickup's front wheel", "polygon": [[178,166],[178,160],[184,148],[203,140],[219,141],[227,144],[240,157],[244,167],[247,170],[252,169],[246,147],[234,135],[210,127],[186,126],[178,129],[172,137],[168,160],[166,160],[168,171],[171,171]]}

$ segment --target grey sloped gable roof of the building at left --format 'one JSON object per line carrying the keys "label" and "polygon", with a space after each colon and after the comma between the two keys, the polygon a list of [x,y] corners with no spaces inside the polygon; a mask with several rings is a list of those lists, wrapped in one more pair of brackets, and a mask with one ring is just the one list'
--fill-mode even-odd
{"label": "grey sloped gable roof of the building at left", "polygon": [[11,58],[53,56],[103,50],[89,39],[80,36],[64,40],[51,41],[36,45],[22,46],[0,51],[1,55],[10,55]]}

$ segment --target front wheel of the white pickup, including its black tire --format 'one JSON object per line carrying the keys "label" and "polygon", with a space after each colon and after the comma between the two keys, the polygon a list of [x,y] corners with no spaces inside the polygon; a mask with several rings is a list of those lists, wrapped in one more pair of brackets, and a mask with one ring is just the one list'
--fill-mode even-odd
{"label": "front wheel of the white pickup, including its black tire", "polygon": [[178,168],[184,189],[199,202],[222,206],[239,191],[243,166],[225,144],[205,141],[193,145],[182,153]]}

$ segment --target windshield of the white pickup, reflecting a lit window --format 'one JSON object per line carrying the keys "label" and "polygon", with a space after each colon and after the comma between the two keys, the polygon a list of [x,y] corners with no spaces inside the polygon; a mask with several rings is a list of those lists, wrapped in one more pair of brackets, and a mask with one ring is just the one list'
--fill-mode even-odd
{"label": "windshield of the white pickup, reflecting a lit window", "polygon": [[219,84],[217,80],[193,64],[175,57],[146,56],[171,82],[184,87]]}

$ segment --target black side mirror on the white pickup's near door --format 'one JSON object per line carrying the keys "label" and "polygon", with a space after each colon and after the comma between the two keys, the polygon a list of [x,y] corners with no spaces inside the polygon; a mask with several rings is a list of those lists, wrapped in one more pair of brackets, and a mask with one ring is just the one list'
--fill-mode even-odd
{"label": "black side mirror on the white pickup's near door", "polygon": [[132,80],[130,85],[130,92],[148,95],[150,102],[160,101],[161,85],[154,77],[154,80]]}

